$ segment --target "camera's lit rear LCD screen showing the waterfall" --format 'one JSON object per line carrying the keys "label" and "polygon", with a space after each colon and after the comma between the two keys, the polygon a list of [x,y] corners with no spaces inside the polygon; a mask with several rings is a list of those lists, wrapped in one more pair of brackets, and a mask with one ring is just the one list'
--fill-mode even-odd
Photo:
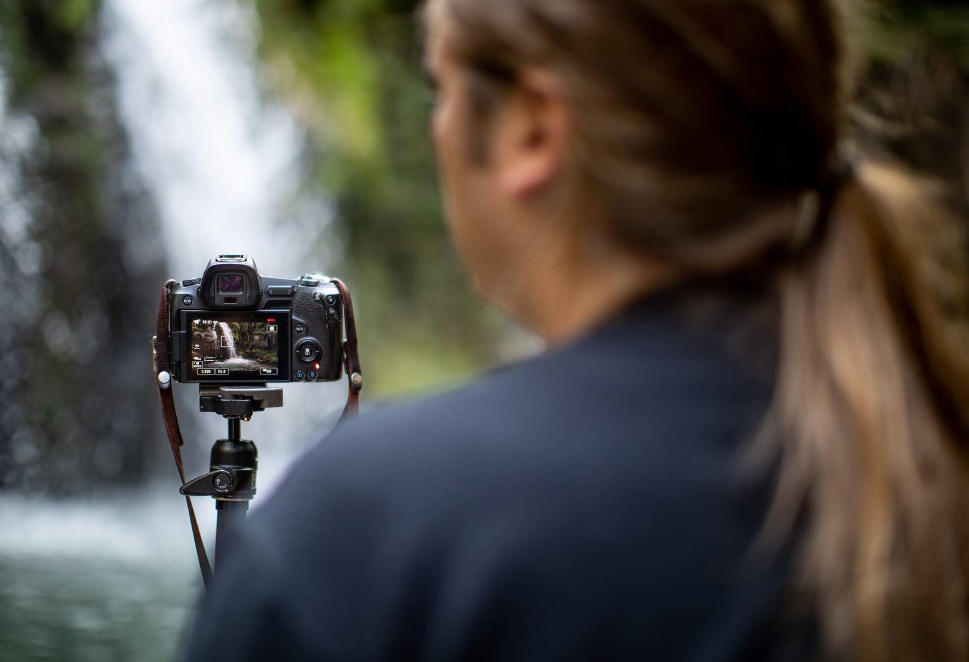
{"label": "camera's lit rear LCD screen showing the waterfall", "polygon": [[193,382],[290,381],[288,311],[190,313],[189,380]]}

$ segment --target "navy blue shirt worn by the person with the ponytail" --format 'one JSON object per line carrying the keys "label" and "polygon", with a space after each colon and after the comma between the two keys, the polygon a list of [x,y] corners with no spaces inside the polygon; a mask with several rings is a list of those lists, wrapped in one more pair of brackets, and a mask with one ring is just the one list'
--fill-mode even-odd
{"label": "navy blue shirt worn by the person with the ponytail", "polygon": [[216,569],[186,659],[796,653],[788,554],[753,549],[772,479],[741,466],[773,386],[767,299],[674,288],[339,428]]}

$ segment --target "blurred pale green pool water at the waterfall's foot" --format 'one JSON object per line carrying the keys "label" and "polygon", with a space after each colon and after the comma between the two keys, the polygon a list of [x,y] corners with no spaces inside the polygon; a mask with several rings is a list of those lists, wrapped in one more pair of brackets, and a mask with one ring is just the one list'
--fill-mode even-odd
{"label": "blurred pale green pool water at the waterfall's foot", "polygon": [[[258,498],[282,471],[281,463],[260,468]],[[210,500],[195,501],[211,534]],[[153,486],[58,502],[7,494],[0,531],[0,659],[175,658],[202,583],[176,491]]]}

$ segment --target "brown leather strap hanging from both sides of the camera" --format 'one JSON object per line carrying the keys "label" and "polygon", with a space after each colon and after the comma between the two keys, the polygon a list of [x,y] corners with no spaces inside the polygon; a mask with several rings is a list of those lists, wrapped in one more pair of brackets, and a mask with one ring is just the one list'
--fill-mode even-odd
{"label": "brown leather strap hanging from both sides of the camera", "polygon": [[[155,329],[155,377],[158,386],[158,396],[162,403],[162,418],[165,420],[165,430],[169,435],[169,443],[172,444],[172,455],[175,458],[175,466],[178,467],[178,477],[181,479],[182,486],[185,485],[185,468],[182,464],[181,447],[185,441],[182,439],[181,428],[178,426],[178,415],[175,413],[175,400],[172,394],[172,375],[169,373],[171,365],[171,348],[169,346],[169,292],[172,285],[177,281],[169,280],[162,289],[162,300],[158,305],[158,324]],[[347,396],[347,406],[340,416],[337,423],[339,426],[346,420],[359,414],[359,394],[363,388],[363,374],[360,370],[359,344],[357,341],[357,319],[354,316],[354,303],[350,297],[350,290],[344,285],[343,281],[333,279],[333,284],[340,291],[344,304],[344,328],[346,341],[343,343],[343,364],[347,370],[347,378],[350,381],[350,390]],[[195,539],[195,551],[199,556],[199,567],[202,569],[202,579],[207,589],[212,580],[212,566],[208,562],[208,554],[205,553],[205,545],[202,540],[202,532],[199,529],[199,520],[195,517],[195,509],[192,507],[192,499],[185,497],[188,505],[188,519],[192,524],[192,537]]]}

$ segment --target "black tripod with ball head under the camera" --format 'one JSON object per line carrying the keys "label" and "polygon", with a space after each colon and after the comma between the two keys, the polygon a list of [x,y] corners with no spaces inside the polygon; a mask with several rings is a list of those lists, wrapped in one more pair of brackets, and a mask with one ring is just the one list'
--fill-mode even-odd
{"label": "black tripod with ball head under the camera", "polygon": [[242,439],[242,421],[251,421],[256,412],[283,406],[283,390],[261,386],[199,387],[199,409],[226,418],[229,435],[212,446],[209,471],[194,478],[179,491],[186,496],[211,496],[215,499],[215,566],[221,567],[226,551],[238,535],[256,496],[256,469],[259,449]]}

